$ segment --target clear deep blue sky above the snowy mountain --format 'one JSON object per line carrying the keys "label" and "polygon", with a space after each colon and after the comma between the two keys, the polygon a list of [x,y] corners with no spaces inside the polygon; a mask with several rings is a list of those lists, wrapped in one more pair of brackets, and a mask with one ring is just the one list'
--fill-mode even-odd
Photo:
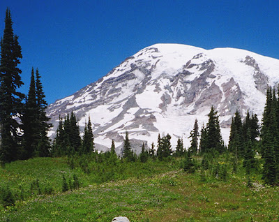
{"label": "clear deep blue sky above the snowy mountain", "polygon": [[155,43],[236,47],[279,59],[274,0],[1,0],[0,36],[7,7],[22,46],[22,91],[38,67],[48,103]]}

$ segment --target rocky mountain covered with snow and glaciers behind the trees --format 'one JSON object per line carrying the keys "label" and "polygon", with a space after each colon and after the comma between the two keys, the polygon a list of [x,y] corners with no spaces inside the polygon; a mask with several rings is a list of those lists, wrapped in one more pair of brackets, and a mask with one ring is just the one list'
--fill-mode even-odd
{"label": "rocky mountain covered with snow and glaciers behind the trees", "polygon": [[[236,109],[262,117],[266,86],[279,82],[279,60],[246,50],[156,44],[146,47],[72,96],[47,108],[54,136],[72,111],[81,130],[90,116],[98,149],[121,146],[125,132],[138,145],[156,144],[158,133],[172,135],[172,147],[186,147],[195,119],[206,124],[211,105],[220,115],[225,143]],[[139,141],[140,140],[140,141]]]}

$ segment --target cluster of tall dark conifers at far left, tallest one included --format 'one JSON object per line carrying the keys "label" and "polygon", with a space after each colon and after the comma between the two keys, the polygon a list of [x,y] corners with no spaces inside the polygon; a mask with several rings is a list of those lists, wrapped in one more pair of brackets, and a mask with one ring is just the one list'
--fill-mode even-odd
{"label": "cluster of tall dark conifers at far left, tallest one included", "polygon": [[45,109],[47,103],[41,76],[31,69],[28,95],[19,88],[24,84],[17,66],[22,59],[18,36],[13,32],[10,10],[7,8],[3,38],[0,42],[0,161],[7,163],[32,156],[48,156],[50,124]]}

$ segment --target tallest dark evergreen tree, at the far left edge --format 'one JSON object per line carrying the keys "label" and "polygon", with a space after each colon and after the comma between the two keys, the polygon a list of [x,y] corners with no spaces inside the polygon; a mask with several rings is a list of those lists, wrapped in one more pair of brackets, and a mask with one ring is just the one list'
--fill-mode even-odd
{"label": "tallest dark evergreen tree, at the far left edge", "polygon": [[13,117],[22,114],[22,101],[25,97],[17,91],[23,84],[20,77],[22,71],[17,67],[22,59],[22,52],[18,36],[13,33],[13,22],[8,8],[0,47],[0,161],[6,163],[15,161],[20,156],[20,124]]}

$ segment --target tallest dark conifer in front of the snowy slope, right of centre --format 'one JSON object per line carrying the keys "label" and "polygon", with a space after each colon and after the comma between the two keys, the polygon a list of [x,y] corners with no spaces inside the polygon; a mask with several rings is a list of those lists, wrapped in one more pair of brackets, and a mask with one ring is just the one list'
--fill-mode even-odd
{"label": "tallest dark conifer in front of the snowy slope, right of centre", "polygon": [[220,133],[219,117],[213,106],[209,112],[209,121],[201,131],[200,149],[202,152],[218,151],[218,153],[222,153],[225,151]]}

